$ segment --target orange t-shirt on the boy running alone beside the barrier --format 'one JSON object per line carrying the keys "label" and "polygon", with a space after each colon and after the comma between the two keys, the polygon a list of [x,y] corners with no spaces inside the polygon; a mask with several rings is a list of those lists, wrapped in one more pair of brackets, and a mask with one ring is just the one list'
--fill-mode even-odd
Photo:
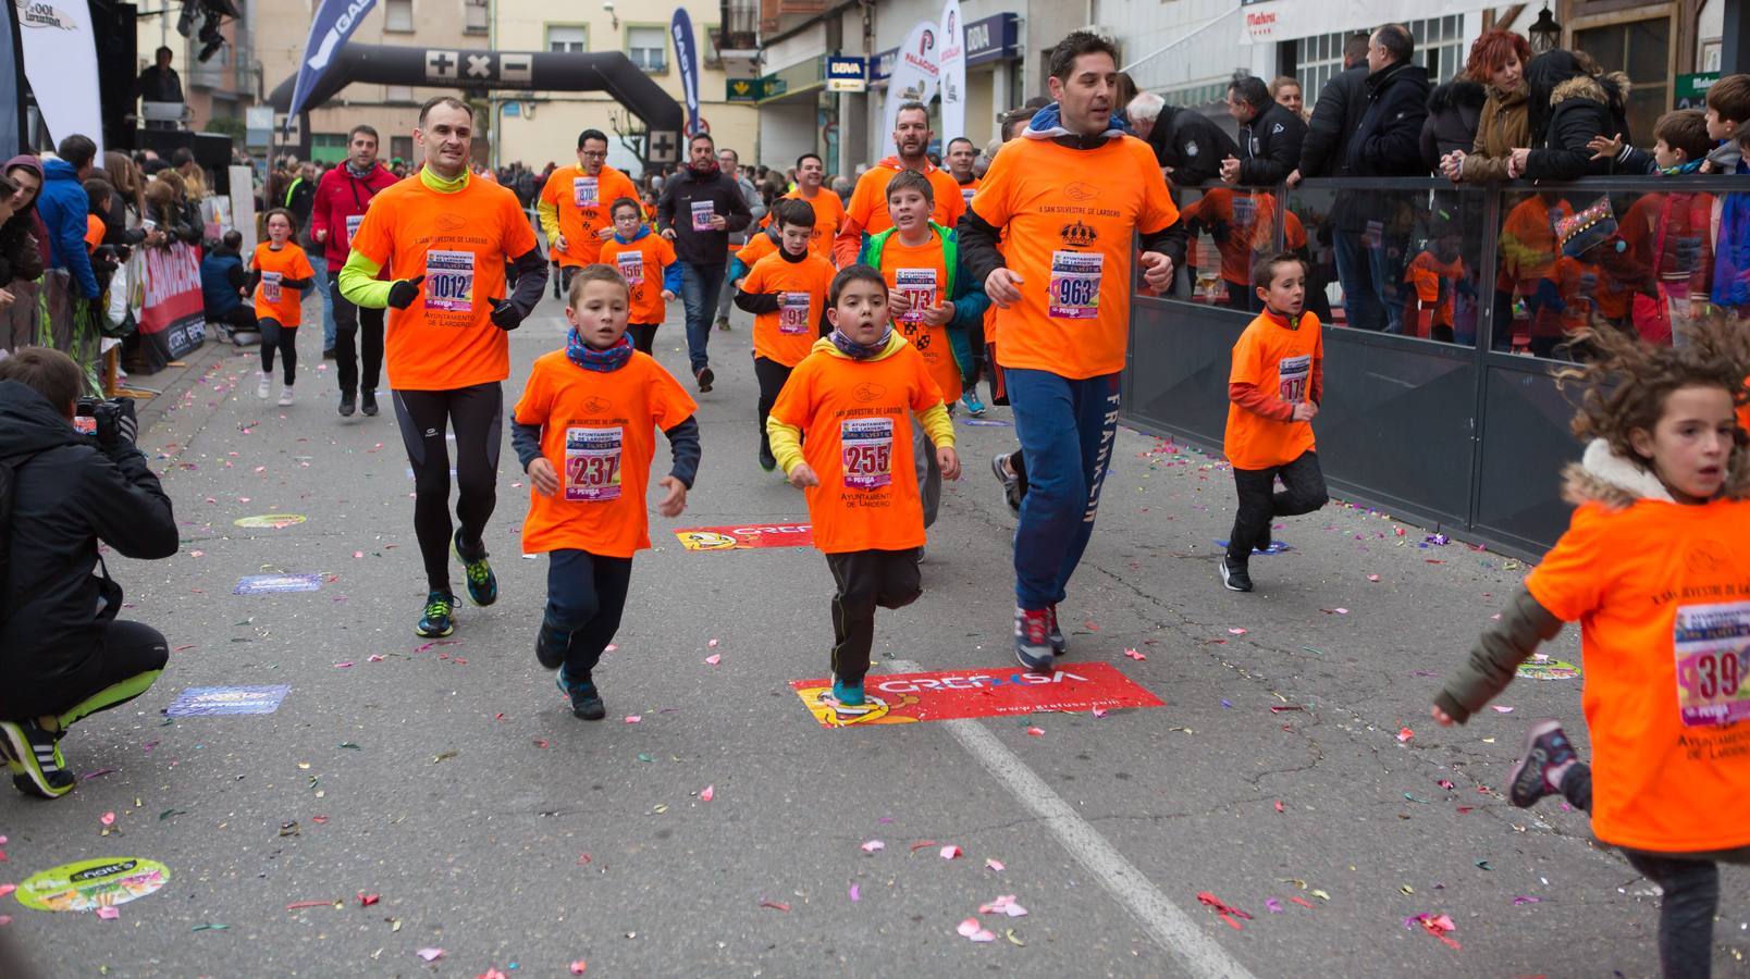
{"label": "orange t-shirt on the boy running alone beside the barrier", "polygon": [[[1267,395],[1300,404],[1323,385],[1325,332],[1318,316],[1300,315],[1300,329],[1290,330],[1269,313],[1260,313],[1234,344],[1234,367],[1227,383],[1253,385]],[[1227,406],[1227,432],[1222,449],[1234,469],[1272,469],[1311,453],[1311,421],[1276,421]]]}

